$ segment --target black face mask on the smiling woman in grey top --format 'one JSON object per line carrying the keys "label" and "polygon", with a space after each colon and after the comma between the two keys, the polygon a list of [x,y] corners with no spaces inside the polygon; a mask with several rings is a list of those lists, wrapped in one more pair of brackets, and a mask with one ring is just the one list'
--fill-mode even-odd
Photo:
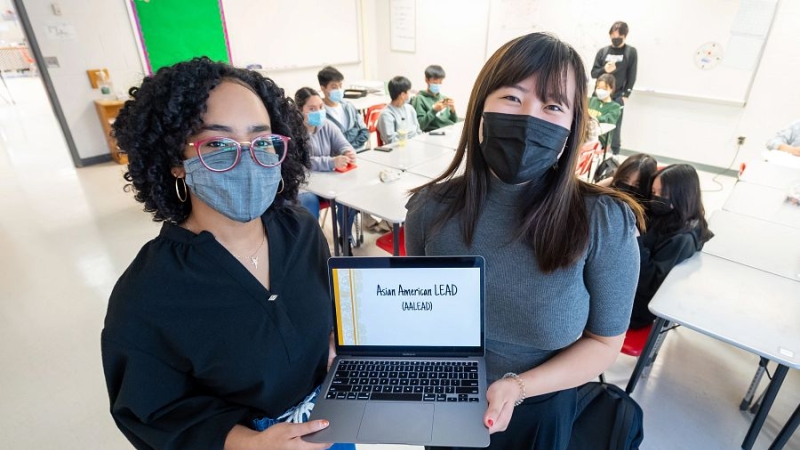
{"label": "black face mask on the smiling woman in grey top", "polygon": [[557,161],[569,130],[536,117],[484,113],[481,154],[508,184],[540,180]]}

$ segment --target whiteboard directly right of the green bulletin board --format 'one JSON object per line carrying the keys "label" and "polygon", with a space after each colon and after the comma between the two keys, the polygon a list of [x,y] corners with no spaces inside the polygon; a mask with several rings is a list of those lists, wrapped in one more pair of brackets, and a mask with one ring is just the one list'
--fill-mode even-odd
{"label": "whiteboard directly right of the green bulletin board", "polygon": [[231,63],[268,71],[361,62],[358,0],[222,0]]}

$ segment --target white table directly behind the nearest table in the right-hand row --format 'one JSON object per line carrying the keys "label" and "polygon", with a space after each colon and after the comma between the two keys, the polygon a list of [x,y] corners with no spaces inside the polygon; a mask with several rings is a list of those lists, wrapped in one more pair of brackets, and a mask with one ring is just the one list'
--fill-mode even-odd
{"label": "white table directly behind the nearest table in the right-hand row", "polygon": [[[714,237],[703,246],[703,253],[770,272],[800,285],[800,228],[725,210],[715,211],[708,227]],[[800,297],[797,301],[800,304]],[[794,317],[795,321],[798,318],[800,315]]]}

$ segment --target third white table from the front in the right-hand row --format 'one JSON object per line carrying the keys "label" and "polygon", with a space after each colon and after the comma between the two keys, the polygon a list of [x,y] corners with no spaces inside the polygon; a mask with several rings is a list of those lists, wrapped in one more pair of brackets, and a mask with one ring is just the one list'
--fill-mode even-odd
{"label": "third white table from the front in the right-hand row", "polygon": [[736,183],[722,209],[735,214],[800,228],[800,205],[793,205],[786,201],[786,190],[784,189],[755,183]]}

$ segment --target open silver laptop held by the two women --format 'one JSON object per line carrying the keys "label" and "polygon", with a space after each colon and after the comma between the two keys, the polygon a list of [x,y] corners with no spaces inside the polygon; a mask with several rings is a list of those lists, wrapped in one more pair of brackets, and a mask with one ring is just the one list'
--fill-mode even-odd
{"label": "open silver laptop held by the two women", "polygon": [[484,260],[328,260],[337,357],[309,442],[487,447]]}

